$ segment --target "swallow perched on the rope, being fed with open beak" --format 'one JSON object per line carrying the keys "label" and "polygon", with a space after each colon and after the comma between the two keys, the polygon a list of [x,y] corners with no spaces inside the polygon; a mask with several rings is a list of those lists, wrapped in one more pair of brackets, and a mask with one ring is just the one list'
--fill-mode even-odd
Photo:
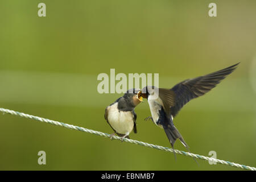
{"label": "swallow perched on the rope, being fed with open beak", "polygon": [[105,109],[105,119],[114,130],[112,136],[117,134],[123,140],[129,138],[133,130],[137,133],[137,115],[134,108],[142,102],[142,96],[138,96],[139,89],[130,89],[113,104]]}

